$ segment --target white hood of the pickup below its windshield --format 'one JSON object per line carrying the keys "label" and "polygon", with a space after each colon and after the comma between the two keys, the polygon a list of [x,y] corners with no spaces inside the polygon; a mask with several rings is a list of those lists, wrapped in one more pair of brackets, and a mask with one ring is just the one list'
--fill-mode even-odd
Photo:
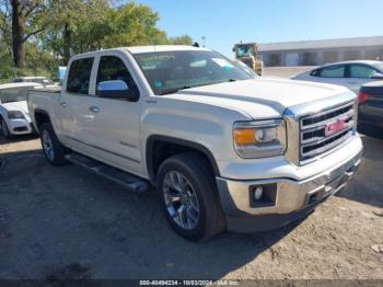
{"label": "white hood of the pickup below its windshield", "polygon": [[256,119],[280,117],[287,107],[344,93],[351,92],[340,85],[260,77],[192,88],[164,96],[242,111]]}

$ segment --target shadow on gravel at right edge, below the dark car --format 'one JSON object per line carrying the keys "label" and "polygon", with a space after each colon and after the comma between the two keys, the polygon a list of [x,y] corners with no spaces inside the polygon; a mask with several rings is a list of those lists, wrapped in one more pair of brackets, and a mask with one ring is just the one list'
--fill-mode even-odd
{"label": "shadow on gravel at right edge, below the dark car", "polygon": [[363,160],[351,183],[337,194],[350,200],[383,207],[383,141],[362,136]]}

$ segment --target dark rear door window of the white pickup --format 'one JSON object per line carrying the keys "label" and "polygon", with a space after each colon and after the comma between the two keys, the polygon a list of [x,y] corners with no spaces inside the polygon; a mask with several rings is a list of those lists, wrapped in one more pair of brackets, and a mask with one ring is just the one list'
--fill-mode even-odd
{"label": "dark rear door window of the white pickup", "polygon": [[84,58],[72,61],[67,83],[67,92],[89,94],[93,58]]}

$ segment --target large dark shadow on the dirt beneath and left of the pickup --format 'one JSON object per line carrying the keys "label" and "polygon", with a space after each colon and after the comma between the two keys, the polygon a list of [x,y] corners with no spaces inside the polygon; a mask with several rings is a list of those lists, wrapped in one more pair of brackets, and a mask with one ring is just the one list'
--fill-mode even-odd
{"label": "large dark shadow on the dirt beneath and left of the pickup", "polygon": [[301,222],[193,243],[170,228],[154,192],[134,194],[72,164],[53,168],[40,151],[3,156],[1,278],[51,279],[81,266],[86,278],[218,279],[260,255],[274,260],[272,246]]}

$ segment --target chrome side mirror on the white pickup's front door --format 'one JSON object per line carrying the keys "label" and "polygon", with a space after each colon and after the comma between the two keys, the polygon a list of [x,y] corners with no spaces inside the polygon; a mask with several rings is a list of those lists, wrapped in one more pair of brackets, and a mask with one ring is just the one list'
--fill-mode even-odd
{"label": "chrome side mirror on the white pickup's front door", "polygon": [[125,99],[131,102],[138,100],[137,89],[129,89],[128,84],[123,80],[100,82],[96,94],[101,97]]}

